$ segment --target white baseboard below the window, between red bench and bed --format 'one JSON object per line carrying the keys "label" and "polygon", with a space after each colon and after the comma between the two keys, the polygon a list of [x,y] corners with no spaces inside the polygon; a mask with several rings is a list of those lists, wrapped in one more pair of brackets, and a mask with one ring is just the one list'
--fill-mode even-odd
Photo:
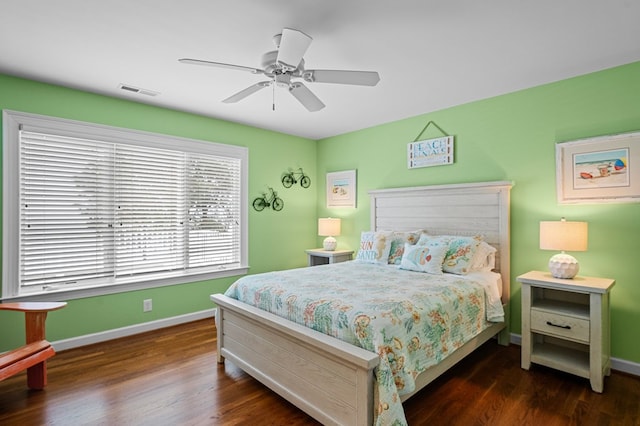
{"label": "white baseboard below the window, between red bench and bed", "polygon": [[99,333],[85,334],[84,336],[72,337],[70,339],[57,340],[55,342],[51,342],[51,345],[53,345],[53,348],[56,351],[78,348],[80,346],[105,342],[107,340],[117,339],[120,337],[132,336],[134,334],[158,330],[160,328],[171,327],[173,325],[184,324],[200,319],[213,319],[215,311],[215,308],[207,309],[205,311],[192,312],[189,314],[178,315],[177,317],[163,318],[156,321],[144,322],[127,327],[115,328],[113,330],[101,331]]}

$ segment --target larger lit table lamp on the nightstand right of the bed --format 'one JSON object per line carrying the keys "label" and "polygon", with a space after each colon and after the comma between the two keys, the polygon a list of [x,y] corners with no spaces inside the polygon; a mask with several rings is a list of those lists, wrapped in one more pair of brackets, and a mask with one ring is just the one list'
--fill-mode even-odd
{"label": "larger lit table lamp on the nightstand right of the bed", "polygon": [[587,222],[559,221],[540,222],[540,249],[560,250],[549,259],[549,272],[555,278],[571,279],[580,270],[575,257],[566,251],[587,250]]}

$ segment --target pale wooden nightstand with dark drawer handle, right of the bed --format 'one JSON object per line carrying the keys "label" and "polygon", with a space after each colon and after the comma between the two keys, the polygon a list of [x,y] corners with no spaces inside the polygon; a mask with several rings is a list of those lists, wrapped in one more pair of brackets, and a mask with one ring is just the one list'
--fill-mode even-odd
{"label": "pale wooden nightstand with dark drawer handle, right of the bed", "polygon": [[611,373],[609,293],[615,280],[548,272],[520,275],[522,368],[531,363],[585,377],[601,393]]}

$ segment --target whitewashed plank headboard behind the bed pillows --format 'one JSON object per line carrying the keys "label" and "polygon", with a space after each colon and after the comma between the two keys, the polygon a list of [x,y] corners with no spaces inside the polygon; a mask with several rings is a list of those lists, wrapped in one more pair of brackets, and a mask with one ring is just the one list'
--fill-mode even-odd
{"label": "whitewashed plank headboard behind the bed pillows", "polygon": [[512,183],[480,182],[369,191],[371,229],[483,235],[494,246],[502,302],[510,297],[509,194]]}

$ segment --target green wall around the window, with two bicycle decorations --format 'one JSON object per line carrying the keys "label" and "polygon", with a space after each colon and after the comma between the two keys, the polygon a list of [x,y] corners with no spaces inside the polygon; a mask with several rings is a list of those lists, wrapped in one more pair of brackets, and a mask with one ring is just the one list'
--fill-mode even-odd
{"label": "green wall around the window, with two bicycle decorations", "polygon": [[[284,199],[280,212],[249,210],[250,273],[306,265],[304,250],[315,245],[315,141],[90,94],[0,74],[0,109],[126,127],[249,148],[249,198],[273,186]],[[1,123],[0,123],[1,126]],[[285,189],[281,175],[302,167],[312,176],[308,189]],[[47,319],[49,340],[61,340],[213,308],[209,295],[237,277],[69,301]],[[153,311],[142,312],[142,300]],[[0,312],[0,351],[24,341],[21,314]]]}

